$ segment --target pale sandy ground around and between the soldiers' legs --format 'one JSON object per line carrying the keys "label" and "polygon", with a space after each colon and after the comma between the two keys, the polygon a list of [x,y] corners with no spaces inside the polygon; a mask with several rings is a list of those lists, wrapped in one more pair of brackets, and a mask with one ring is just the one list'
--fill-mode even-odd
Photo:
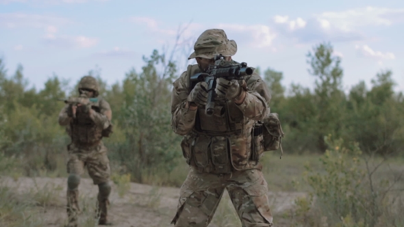
{"label": "pale sandy ground around and between the soldiers' legs", "polygon": [[[45,205],[45,209],[42,208],[40,213],[44,226],[64,226],[66,222],[66,209],[64,208],[66,201],[66,178],[21,177],[17,181],[14,181],[12,178],[3,177],[1,178],[1,183],[8,187],[15,187],[18,193],[26,193],[29,190],[42,190],[42,193],[45,195],[51,193],[51,202],[49,202],[49,205]],[[94,226],[94,224],[88,222],[88,219],[93,220],[90,217],[94,213],[97,191],[97,185],[92,185],[92,181],[89,178],[81,179],[79,196],[82,214],[79,218],[81,223],[87,220],[86,224],[81,224],[81,226]],[[153,187],[151,185],[130,183],[130,189],[121,198],[118,194],[118,186],[113,184],[109,211],[112,226],[173,226],[170,222],[177,209],[178,196],[179,188]],[[268,192],[275,227],[288,226],[287,220],[282,219],[281,215],[292,208],[293,201],[298,196],[304,196],[304,193]],[[222,202],[229,203],[228,206],[232,208],[227,192],[223,196]],[[216,212],[214,220],[220,219],[220,215],[225,215],[225,213]],[[209,227],[233,226],[214,224],[214,220],[212,220]]]}

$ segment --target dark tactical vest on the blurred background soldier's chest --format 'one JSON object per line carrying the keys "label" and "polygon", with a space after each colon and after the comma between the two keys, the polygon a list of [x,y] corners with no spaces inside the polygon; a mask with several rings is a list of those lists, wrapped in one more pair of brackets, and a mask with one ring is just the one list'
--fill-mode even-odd
{"label": "dark tactical vest on the blurred background soldier's chest", "polygon": [[[99,101],[92,105],[94,111],[100,112]],[[71,122],[71,139],[73,144],[81,147],[97,146],[103,137],[103,129],[94,124],[88,113],[77,113]]]}

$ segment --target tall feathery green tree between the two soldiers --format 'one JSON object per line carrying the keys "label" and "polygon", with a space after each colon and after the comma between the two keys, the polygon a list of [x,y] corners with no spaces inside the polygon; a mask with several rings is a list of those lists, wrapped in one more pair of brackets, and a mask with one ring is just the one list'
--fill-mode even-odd
{"label": "tall feathery green tree between the two soldiers", "polygon": [[159,167],[171,171],[173,159],[180,154],[179,137],[171,129],[170,110],[176,66],[156,50],[143,60],[142,72],[131,70],[125,79],[125,103],[119,124],[125,125],[127,144],[118,151],[121,163],[140,183],[145,174]]}

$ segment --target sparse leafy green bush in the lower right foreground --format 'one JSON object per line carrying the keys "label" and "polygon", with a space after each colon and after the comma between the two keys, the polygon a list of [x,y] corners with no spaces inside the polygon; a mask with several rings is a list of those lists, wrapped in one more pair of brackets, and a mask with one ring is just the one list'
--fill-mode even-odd
{"label": "sparse leafy green bush in the lower right foreground", "polygon": [[325,142],[329,149],[320,158],[323,172],[307,165],[305,181],[312,191],[307,198],[296,200],[294,215],[304,219],[307,225],[303,226],[321,226],[321,222],[352,227],[403,225],[399,203],[403,197],[394,190],[399,178],[393,182],[375,178],[382,162],[371,168],[357,143],[346,147],[342,139],[329,136]]}

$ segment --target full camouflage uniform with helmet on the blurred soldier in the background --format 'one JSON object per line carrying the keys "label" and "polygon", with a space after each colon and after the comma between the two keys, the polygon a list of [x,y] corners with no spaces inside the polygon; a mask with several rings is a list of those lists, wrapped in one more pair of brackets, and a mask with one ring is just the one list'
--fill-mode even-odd
{"label": "full camouflage uniform with helmet on the blurred soldier in the background", "polygon": [[[88,90],[94,92],[94,96],[88,97]],[[79,83],[80,97],[93,98],[98,96],[98,83],[94,77],[83,77]],[[68,189],[67,213],[69,226],[77,226],[78,186],[80,175],[87,168],[94,185],[99,186],[98,209],[99,224],[107,224],[108,197],[111,192],[109,184],[110,163],[107,156],[107,148],[103,145],[102,137],[108,137],[111,132],[112,111],[110,104],[103,98],[97,98],[92,106],[81,105],[77,107],[75,116],[72,114],[72,105],[67,104],[59,114],[59,124],[66,126],[66,131],[71,137],[68,145],[67,172]],[[93,110],[89,114],[90,109]]]}

